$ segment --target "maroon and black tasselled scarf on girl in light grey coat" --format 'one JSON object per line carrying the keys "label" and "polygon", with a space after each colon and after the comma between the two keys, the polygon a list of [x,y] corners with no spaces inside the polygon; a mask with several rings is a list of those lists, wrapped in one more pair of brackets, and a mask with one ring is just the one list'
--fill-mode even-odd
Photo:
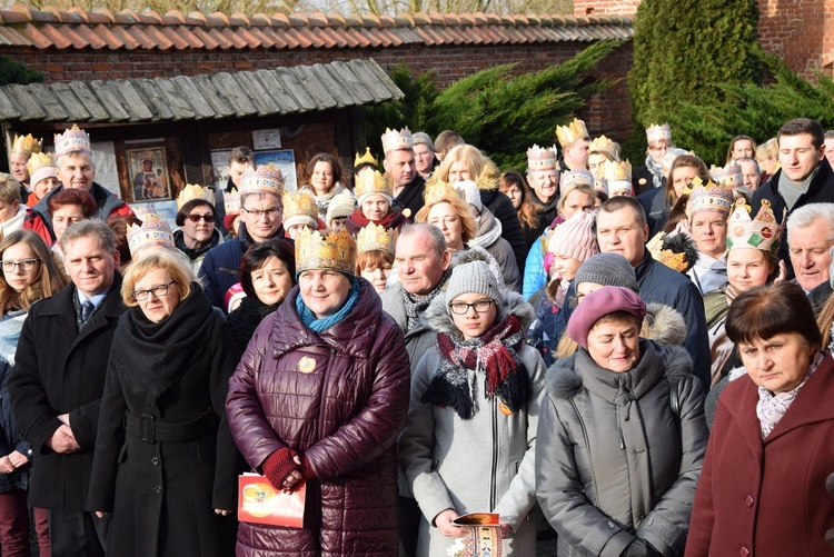
{"label": "maroon and black tasselled scarf on girl in light grey coat", "polygon": [[[438,332],[440,367],[420,400],[450,406],[461,419],[470,419],[479,410],[473,391],[481,374],[487,398],[498,395],[513,412],[520,410],[532,391],[529,375],[518,358],[523,339],[522,322],[516,316],[507,316],[480,338],[471,340]],[[471,384],[468,370],[475,371]]]}

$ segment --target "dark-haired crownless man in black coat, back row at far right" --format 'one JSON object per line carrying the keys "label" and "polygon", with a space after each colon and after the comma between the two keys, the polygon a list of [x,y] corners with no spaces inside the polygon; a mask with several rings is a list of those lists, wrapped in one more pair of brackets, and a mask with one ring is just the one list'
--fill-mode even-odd
{"label": "dark-haired crownless man in black coat, back row at far right", "polygon": [[[820,122],[796,118],[786,122],[776,136],[782,168],[753,195],[752,215],[758,215],[762,200],[771,202],[776,220],[810,203],[834,202],[834,171],[825,158],[825,132]],[[787,240],[780,246],[778,257],[787,266],[788,278],[794,270],[788,257]]]}

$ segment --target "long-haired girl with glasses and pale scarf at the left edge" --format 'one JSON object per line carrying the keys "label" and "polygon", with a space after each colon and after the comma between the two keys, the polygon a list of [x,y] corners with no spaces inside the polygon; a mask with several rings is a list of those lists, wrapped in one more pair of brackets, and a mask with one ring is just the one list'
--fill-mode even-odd
{"label": "long-haired girl with glasses and pale scarf at the left edge", "polygon": [[[49,248],[31,230],[17,230],[0,241],[0,547],[3,555],[29,555],[29,462],[33,451],[20,438],[11,415],[8,380],[29,307],[67,284]],[[34,509],[42,554],[49,551],[47,511]]]}

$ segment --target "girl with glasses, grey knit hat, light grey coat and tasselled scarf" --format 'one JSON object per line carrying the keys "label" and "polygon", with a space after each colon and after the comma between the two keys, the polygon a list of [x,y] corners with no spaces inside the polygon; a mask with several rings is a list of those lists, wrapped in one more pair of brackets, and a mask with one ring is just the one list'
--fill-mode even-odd
{"label": "girl with glasses, grey knit hat, light grey coat and tasselled scarf", "polygon": [[456,266],[426,312],[437,346],[420,360],[400,462],[420,506],[417,555],[446,555],[466,513],[500,515],[504,555],[536,553],[536,421],[545,366],[524,342],[533,308],[483,261]]}

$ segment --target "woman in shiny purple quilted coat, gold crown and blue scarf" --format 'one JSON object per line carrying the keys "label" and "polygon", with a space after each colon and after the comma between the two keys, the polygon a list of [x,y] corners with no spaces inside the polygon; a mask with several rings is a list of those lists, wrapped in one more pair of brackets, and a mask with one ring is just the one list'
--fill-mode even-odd
{"label": "woman in shiny purple quilted coat, gold crown and blue scarf", "polygon": [[296,241],[294,288],[229,382],[244,457],[276,489],[307,483],[302,528],[241,523],[238,556],[397,555],[395,444],[408,406],[403,332],[341,230]]}

